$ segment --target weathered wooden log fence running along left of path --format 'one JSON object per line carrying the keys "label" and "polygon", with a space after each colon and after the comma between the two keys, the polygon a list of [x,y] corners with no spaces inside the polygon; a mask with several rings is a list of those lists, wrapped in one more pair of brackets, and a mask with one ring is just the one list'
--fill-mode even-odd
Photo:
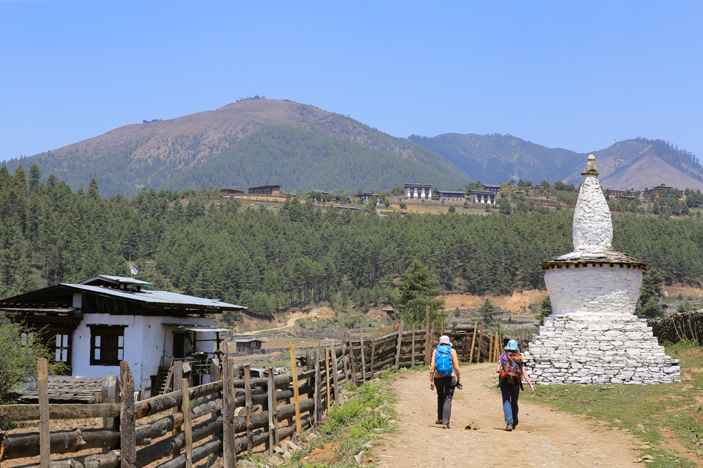
{"label": "weathered wooden log fence running along left of path", "polygon": [[[134,401],[134,379],[127,362],[120,363],[120,376],[109,376],[103,395],[109,402],[97,404],[49,404],[46,362],[38,361],[39,404],[2,405],[0,422],[39,420],[39,432],[0,434],[0,462],[40,455],[39,468],[143,468],[157,462],[158,468],[192,468],[214,453],[223,457],[224,468],[235,468],[238,454],[259,446],[273,453],[295,433],[318,424],[332,403],[342,404],[344,382],[361,383],[380,375],[390,366],[413,366],[428,359],[437,346],[441,329],[399,330],[377,338],[359,333],[353,340],[342,332],[342,344],[307,352],[304,370],[298,370],[295,346],[291,344],[292,375],[235,379],[233,359],[212,359],[211,375],[222,380],[188,387],[187,369],[176,372],[181,385],[175,392]],[[491,339],[480,326],[453,326],[444,330],[461,360],[496,359],[500,335]],[[491,345],[493,349],[491,349]],[[225,348],[226,349],[226,348]],[[321,352],[320,352],[321,351]],[[491,352],[492,351],[492,352]],[[117,394],[120,389],[122,399]],[[193,404],[195,403],[195,404]],[[261,406],[259,406],[261,405]],[[239,409],[239,411],[238,411]],[[148,424],[138,420],[161,415]],[[104,418],[101,429],[77,428],[49,432],[49,420]],[[50,460],[50,454],[79,454],[103,449],[104,453],[76,455]],[[77,462],[76,460],[80,460]]]}

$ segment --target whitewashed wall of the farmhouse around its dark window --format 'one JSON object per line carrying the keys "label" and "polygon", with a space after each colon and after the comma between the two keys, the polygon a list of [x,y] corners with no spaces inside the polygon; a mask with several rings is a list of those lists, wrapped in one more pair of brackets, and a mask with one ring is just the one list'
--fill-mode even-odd
{"label": "whitewashed wall of the farmhouse around its dark window", "polygon": [[[212,319],[200,317],[134,316],[110,314],[84,314],[83,320],[73,333],[71,367],[73,377],[105,377],[120,375],[120,366],[91,366],[89,324],[126,325],[124,328],[124,361],[129,363],[134,384],[155,375],[164,356],[170,363],[173,356],[173,331],[179,330],[164,323],[181,325],[213,326]],[[198,340],[214,338],[214,333],[198,332]],[[198,342],[198,351],[212,352],[213,342]],[[186,339],[186,347],[190,343]],[[150,383],[147,382],[147,386]]]}

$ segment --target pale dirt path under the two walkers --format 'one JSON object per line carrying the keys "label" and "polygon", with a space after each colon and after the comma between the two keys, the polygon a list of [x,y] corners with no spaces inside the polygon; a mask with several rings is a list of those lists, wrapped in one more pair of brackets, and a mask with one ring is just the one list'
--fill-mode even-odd
{"label": "pale dirt path under the two walkers", "polygon": [[[380,467],[632,467],[642,445],[626,431],[531,403],[521,396],[520,425],[505,432],[494,364],[463,368],[451,429],[434,425],[437,396],[427,373],[396,379],[398,434],[373,449]],[[467,424],[477,430],[465,429]]]}

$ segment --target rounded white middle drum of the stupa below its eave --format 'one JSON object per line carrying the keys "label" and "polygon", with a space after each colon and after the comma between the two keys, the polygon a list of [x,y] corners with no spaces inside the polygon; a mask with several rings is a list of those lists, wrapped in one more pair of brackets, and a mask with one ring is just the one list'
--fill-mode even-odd
{"label": "rounded white middle drum of the stupa below its eave", "polygon": [[548,269],[544,282],[552,316],[560,314],[632,314],[643,272],[629,265],[607,263]]}

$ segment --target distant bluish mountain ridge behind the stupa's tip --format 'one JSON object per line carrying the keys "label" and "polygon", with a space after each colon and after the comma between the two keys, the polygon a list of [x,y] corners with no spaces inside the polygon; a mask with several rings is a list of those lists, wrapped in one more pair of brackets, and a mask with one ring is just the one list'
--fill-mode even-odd
{"label": "distant bluish mountain ridge behind the stupa's tip", "polygon": [[[441,154],[475,180],[484,183],[541,180],[579,183],[587,153],[548,148],[511,135],[412,135],[409,140]],[[593,152],[601,184],[612,189],[642,189],[666,182],[703,189],[703,166],[690,153],[662,140],[635,138]]]}

